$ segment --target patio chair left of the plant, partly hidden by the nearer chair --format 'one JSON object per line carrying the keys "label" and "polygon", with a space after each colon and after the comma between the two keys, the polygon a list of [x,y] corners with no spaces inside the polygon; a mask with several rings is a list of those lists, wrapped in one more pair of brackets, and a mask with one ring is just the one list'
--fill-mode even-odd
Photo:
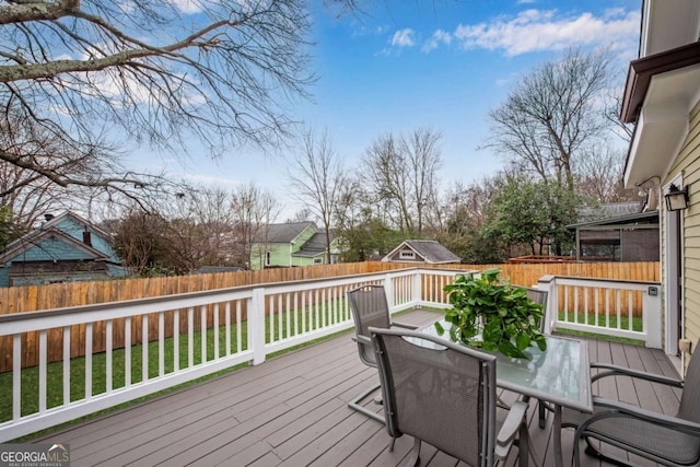
{"label": "patio chair left of the plant, partly hidden by the nearer chair", "polygon": [[[353,339],[358,342],[360,360],[368,366],[377,367],[374,349],[370,340],[370,332],[368,331],[370,326],[380,328],[398,326],[407,329],[417,329],[417,327],[402,323],[394,323],[392,320],[389,306],[386,301],[386,292],[383,285],[362,285],[348,291],[346,295],[348,296],[350,312],[354,320],[355,335]],[[380,384],[377,383],[352,399],[348,404],[348,407],[384,423],[384,417],[381,413],[370,410],[363,405],[363,401],[378,389]],[[381,399],[376,399],[375,402],[382,404]]]}

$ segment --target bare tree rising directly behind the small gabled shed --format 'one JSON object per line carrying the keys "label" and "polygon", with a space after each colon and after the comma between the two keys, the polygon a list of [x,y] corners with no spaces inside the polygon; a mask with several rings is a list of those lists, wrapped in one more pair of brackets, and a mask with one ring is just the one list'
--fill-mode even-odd
{"label": "bare tree rising directly behind the small gabled shed", "polygon": [[418,128],[398,139],[392,133],[381,136],[366,151],[363,165],[370,190],[407,234],[422,233],[424,210],[436,199],[441,138],[438,131]]}

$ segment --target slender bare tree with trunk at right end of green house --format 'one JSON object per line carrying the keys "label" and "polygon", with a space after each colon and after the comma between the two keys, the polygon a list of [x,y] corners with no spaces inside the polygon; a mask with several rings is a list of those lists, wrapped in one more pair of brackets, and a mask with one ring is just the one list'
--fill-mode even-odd
{"label": "slender bare tree with trunk at right end of green house", "polygon": [[331,222],[347,176],[327,130],[319,135],[312,129],[304,132],[288,177],[293,196],[320,219],[326,237],[326,264],[330,264]]}

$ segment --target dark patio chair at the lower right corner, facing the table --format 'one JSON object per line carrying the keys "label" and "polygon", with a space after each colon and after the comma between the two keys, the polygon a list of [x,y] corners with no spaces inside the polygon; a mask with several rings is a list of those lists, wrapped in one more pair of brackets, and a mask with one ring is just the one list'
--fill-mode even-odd
{"label": "dark patio chair at the lower right corner, facing the table", "polygon": [[593,397],[593,416],[564,410],[562,425],[578,427],[573,443],[576,467],[581,465],[582,439],[586,440],[586,454],[619,465],[627,465],[626,459],[603,454],[592,440],[666,466],[700,465],[700,357],[691,357],[685,382],[617,365],[594,363],[591,366],[603,370],[592,382],[608,376],[631,376],[679,387],[682,393],[675,417],[598,396]]}

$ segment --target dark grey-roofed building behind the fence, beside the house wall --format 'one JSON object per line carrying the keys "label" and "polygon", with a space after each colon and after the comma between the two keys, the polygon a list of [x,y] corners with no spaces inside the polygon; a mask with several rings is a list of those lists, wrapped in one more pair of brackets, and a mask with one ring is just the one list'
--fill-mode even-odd
{"label": "dark grey-roofed building behind the fence, beside the house wall", "polygon": [[575,233],[576,260],[658,261],[658,211],[640,212],[640,202],[583,208]]}

